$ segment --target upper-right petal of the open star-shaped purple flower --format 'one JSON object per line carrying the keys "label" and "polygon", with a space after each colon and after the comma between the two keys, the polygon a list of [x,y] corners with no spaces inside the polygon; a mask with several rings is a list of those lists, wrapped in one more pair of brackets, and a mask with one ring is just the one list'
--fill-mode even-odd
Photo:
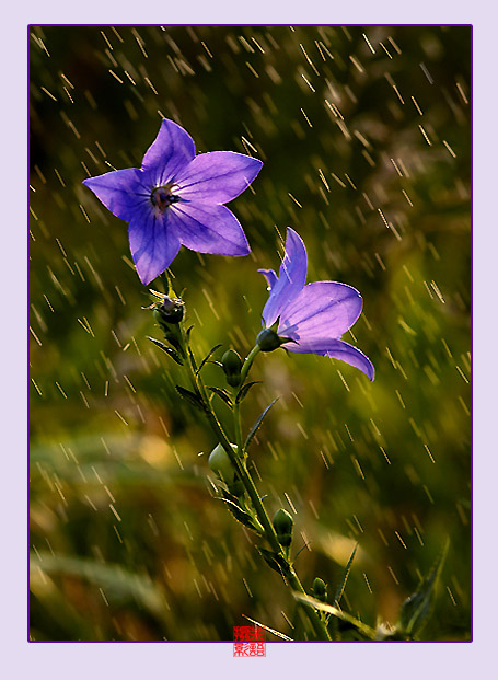
{"label": "upper-right petal of the open star-shaped purple flower", "polygon": [[224,204],[247,188],[262,165],[233,151],[201,153],[175,176],[175,194],[185,200]]}

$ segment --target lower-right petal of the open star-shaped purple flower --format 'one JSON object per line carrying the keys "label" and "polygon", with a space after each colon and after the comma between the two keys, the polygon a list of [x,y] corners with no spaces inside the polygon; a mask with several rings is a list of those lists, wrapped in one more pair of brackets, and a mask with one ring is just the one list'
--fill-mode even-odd
{"label": "lower-right petal of the open star-shaped purple flower", "polygon": [[198,253],[247,255],[251,249],[236,217],[224,206],[175,203],[167,223],[183,245]]}

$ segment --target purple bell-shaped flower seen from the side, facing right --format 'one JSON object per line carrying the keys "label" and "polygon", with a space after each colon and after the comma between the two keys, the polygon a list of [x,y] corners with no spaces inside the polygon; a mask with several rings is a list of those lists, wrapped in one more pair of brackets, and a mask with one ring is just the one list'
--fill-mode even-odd
{"label": "purple bell-shaped flower seen from the side, facing right", "polygon": [[370,380],[375,376],[362,351],[340,339],[361,313],[358,290],[346,284],[305,284],[308,253],[293,229],[287,230],[286,256],[279,276],[258,269],[268,281],[270,295],[263,310],[266,329],[256,341],[263,350],[282,346],[289,351],[317,354],[350,364]]}

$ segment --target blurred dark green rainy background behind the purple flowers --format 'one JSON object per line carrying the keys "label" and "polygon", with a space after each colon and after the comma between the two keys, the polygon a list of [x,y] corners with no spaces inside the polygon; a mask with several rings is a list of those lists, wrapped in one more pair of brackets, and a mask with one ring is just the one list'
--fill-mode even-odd
{"label": "blurred dark green rainy background behind the purple flowers", "polygon": [[231,639],[243,614],[300,634],[281,579],[212,497],[216,441],[178,403],[179,367],[146,339],[161,335],[127,226],[81,184],[140,166],[164,116],[198,151],[265,162],[230,205],[251,256],[182,249],[173,263],[199,356],[251,349],[267,297],[256,269],[278,268],[287,226],[309,280],[363,296],[345,339],[373,383],[276,351],[244,402],[247,429],[280,395],[253,460],[268,510],[297,512],[304,586],[319,575],[334,590],[359,542],[343,606],[394,623],[450,537],[422,638],[468,639],[471,28],[30,33],[32,638]]}

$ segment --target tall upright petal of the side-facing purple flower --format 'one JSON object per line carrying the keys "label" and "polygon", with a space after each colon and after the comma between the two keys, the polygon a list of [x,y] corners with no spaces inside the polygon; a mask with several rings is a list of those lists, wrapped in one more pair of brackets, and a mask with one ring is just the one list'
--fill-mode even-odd
{"label": "tall upright petal of the side-facing purple flower", "polygon": [[308,273],[308,253],[299,234],[290,227],[287,229],[286,255],[280,265],[278,280],[271,287],[263,319],[270,326],[282,313],[285,307],[299,296],[303,289]]}

